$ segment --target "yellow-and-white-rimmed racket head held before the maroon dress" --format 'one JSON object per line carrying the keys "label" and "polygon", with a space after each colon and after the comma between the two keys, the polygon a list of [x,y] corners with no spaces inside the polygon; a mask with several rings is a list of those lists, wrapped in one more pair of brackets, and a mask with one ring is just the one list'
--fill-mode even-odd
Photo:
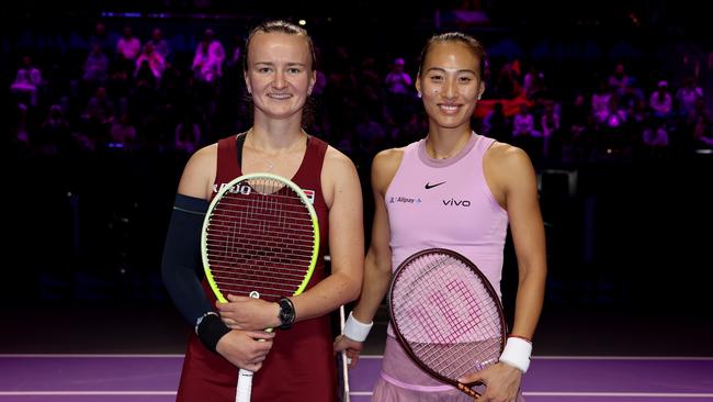
{"label": "yellow-and-white-rimmed racket head held before the maroon dress", "polygon": [[276,301],[302,293],[317,264],[319,223],[304,191],[278,175],[244,175],[222,186],[201,234],[203,269],[227,294]]}

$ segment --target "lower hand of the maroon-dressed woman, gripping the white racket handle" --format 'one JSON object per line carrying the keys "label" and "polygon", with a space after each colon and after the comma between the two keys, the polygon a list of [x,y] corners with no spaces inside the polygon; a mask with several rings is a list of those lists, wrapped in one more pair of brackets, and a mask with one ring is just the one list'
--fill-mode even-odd
{"label": "lower hand of the maroon-dressed woman, gripping the white racket handle", "polygon": [[274,333],[264,331],[234,330],[218,340],[216,350],[234,366],[254,372],[262,367],[274,337]]}

